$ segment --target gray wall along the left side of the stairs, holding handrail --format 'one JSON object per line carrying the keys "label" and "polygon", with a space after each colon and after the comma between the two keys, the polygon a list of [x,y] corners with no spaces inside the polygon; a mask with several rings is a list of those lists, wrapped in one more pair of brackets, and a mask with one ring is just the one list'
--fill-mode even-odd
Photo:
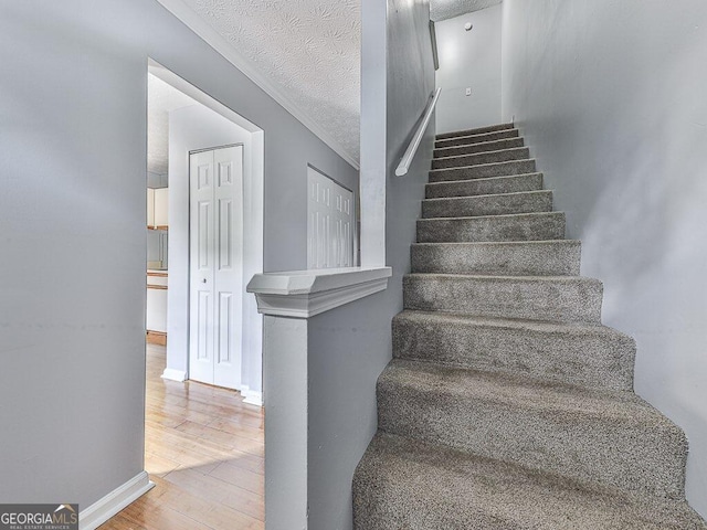
{"label": "gray wall along the left side of the stairs, holding handrail", "polygon": [[[386,178],[386,259],[393,267],[393,277],[386,292],[309,320],[312,530],[351,528],[351,478],[377,430],[376,381],[391,359],[390,322],[402,309],[402,275],[410,271],[410,244],[432,158],[434,130],[430,126],[408,176],[394,176],[434,88],[428,2],[389,0],[386,26],[380,24],[376,3],[380,2],[362,2],[363,56],[387,49],[387,66],[381,62],[377,70],[368,63],[362,68],[361,167]],[[381,77],[387,84],[386,102],[380,102],[381,93],[367,91],[368,84],[380,83]],[[384,116],[381,103],[387,107]],[[388,138],[384,163],[383,157],[365,148],[367,135],[374,136],[381,127],[387,127]]]}

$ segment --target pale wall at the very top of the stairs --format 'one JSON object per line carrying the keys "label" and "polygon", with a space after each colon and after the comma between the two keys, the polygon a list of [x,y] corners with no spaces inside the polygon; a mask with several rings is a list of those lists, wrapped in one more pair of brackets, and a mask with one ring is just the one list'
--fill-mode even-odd
{"label": "pale wall at the very top of the stairs", "polygon": [[435,23],[437,132],[500,123],[500,22],[502,6],[494,6]]}

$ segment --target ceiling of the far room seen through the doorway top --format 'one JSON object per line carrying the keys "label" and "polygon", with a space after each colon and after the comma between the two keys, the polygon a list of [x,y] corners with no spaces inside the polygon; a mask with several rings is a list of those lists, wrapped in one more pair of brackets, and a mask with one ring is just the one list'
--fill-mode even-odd
{"label": "ceiling of the far room seen through the doorway top", "polygon": [[147,74],[147,170],[167,172],[169,156],[169,113],[198,105],[191,97]]}

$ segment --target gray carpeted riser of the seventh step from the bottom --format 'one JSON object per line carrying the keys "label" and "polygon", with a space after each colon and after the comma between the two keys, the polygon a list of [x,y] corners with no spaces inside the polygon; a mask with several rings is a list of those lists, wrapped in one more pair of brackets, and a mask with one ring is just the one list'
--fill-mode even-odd
{"label": "gray carpeted riser of the seventh step from the bottom", "polygon": [[552,192],[507,193],[500,195],[432,199],[422,201],[422,216],[472,218],[552,211]]}

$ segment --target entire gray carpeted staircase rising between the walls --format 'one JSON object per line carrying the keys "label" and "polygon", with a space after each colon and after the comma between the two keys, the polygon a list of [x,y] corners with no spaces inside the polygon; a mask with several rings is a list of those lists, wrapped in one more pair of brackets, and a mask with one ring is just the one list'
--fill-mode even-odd
{"label": "entire gray carpeted staircase rising between the walls", "polygon": [[439,135],[358,530],[707,529],[513,125]]}

